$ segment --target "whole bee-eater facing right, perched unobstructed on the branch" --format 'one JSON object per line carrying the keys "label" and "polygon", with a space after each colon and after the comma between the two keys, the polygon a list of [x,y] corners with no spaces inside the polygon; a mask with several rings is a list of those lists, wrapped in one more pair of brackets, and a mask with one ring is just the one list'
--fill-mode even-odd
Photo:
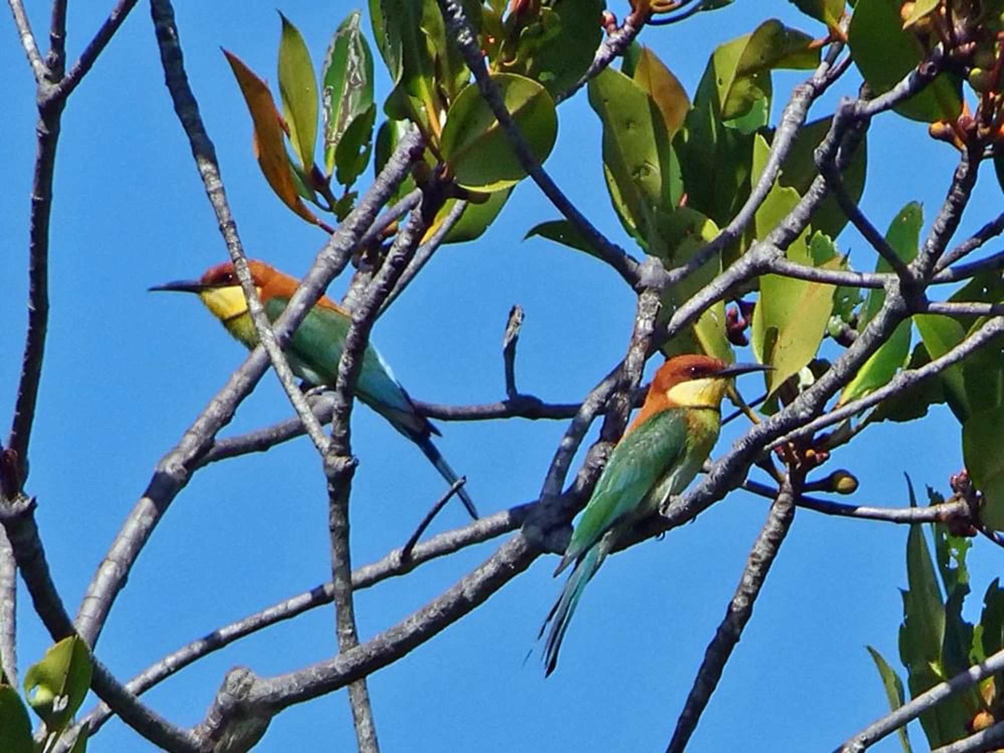
{"label": "whole bee-eater facing right, perched unobstructed on the branch", "polygon": [[730,365],[707,355],[677,355],[656,372],[638,417],[613,448],[554,574],[575,563],[540,629],[546,675],[557,666],[561,641],[586,583],[621,533],[680,494],[701,470],[721,428],[722,396],[730,378],[769,368]]}

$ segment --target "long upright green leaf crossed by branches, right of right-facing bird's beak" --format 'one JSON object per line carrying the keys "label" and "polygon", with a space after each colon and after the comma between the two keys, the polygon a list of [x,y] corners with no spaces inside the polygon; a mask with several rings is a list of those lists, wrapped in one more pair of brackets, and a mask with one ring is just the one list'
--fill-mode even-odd
{"label": "long upright green leaf crossed by branches, right of right-facing bird's beak", "polygon": [[[911,202],[900,210],[900,214],[890,224],[886,240],[903,261],[909,263],[917,256],[923,224],[924,210],[917,202]],[[888,272],[890,270],[891,267],[886,259],[878,257],[875,271]],[[885,299],[886,292],[884,290],[868,291],[868,297],[861,312],[861,327],[865,326],[878,312]],[[906,365],[910,356],[910,340],[911,323],[907,319],[900,322],[889,339],[864,361],[854,378],[843,389],[837,405],[844,405],[862,398],[888,384],[897,371]]]}

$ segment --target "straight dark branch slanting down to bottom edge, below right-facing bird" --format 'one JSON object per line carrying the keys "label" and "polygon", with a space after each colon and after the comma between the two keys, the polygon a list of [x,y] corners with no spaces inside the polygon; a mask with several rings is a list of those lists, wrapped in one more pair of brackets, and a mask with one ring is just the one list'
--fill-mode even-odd
{"label": "straight dark branch slanting down to bottom edge, below right-facing bird", "polygon": [[694,678],[694,685],[677,720],[677,727],[666,753],[682,753],[697,729],[701,715],[707,708],[718,681],[722,679],[725,664],[753,615],[753,604],[794,520],[797,494],[790,478],[786,478],[746,558],[746,566],[725,611],[725,618],[718,625],[715,637],[705,651],[701,669]]}

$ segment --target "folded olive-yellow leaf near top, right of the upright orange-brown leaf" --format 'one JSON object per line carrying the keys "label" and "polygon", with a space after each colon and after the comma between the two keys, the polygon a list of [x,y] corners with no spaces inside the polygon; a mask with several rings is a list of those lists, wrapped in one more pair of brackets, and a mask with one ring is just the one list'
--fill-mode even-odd
{"label": "folded olive-yellow leaf near top, right of the upright orange-brown leaf", "polygon": [[741,117],[757,99],[770,97],[772,68],[816,67],[819,49],[811,49],[811,41],[808,34],[770,19],[753,33],[719,46],[712,65],[722,119]]}

